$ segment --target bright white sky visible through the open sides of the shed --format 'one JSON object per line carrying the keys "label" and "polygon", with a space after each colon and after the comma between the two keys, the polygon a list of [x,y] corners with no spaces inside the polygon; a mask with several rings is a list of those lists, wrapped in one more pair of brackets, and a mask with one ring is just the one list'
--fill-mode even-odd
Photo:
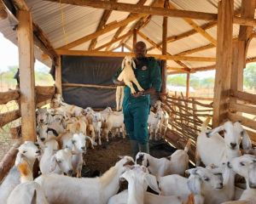
{"label": "bright white sky visible through the open sides of the shed", "polygon": [[[119,51],[119,50],[115,50],[115,51]],[[0,58],[1,58],[0,73],[3,71],[8,71],[9,66],[19,65],[18,47],[13,42],[10,42],[8,39],[3,37],[3,34],[1,32],[0,32]],[[35,70],[49,72],[49,67],[47,67],[40,61],[36,60]],[[198,71],[193,75],[201,78],[214,77],[215,71]]]}

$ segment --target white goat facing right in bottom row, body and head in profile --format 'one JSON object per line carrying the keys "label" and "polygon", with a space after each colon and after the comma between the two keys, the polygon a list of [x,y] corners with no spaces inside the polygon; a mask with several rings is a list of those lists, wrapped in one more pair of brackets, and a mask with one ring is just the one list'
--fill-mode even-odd
{"label": "white goat facing right in bottom row, body and head in profile", "polygon": [[[209,169],[196,167],[189,169],[189,178],[172,174],[159,178],[160,195],[177,195],[186,201],[188,196],[195,195],[195,203],[204,203],[208,190],[222,189],[222,178],[214,175]],[[207,203],[207,202],[206,202]],[[208,204],[208,203],[207,203]]]}

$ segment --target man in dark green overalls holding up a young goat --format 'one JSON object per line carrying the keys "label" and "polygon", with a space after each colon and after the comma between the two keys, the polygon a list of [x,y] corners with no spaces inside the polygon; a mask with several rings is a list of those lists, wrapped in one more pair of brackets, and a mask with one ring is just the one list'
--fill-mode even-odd
{"label": "man in dark green overalls holding up a young goat", "polygon": [[131,94],[131,89],[125,86],[124,82],[117,80],[122,71],[121,68],[119,68],[113,77],[114,84],[125,86],[123,113],[126,132],[129,134],[131,142],[133,158],[135,158],[139,150],[149,153],[148,114],[150,94],[160,92],[161,88],[160,66],[153,57],[146,57],[146,44],[144,42],[137,42],[134,52],[136,55],[136,69],[134,68],[133,71],[144,91],[138,92],[136,85],[133,84],[137,93]]}

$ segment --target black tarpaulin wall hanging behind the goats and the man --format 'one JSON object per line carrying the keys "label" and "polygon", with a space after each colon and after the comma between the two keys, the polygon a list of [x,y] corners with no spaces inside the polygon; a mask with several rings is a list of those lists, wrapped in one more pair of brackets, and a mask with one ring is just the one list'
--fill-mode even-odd
{"label": "black tarpaulin wall hanging behind the goats and the man", "polygon": [[[62,56],[62,83],[113,85],[112,77],[122,60],[118,57]],[[83,108],[115,107],[115,89],[62,87],[62,94],[67,104]]]}

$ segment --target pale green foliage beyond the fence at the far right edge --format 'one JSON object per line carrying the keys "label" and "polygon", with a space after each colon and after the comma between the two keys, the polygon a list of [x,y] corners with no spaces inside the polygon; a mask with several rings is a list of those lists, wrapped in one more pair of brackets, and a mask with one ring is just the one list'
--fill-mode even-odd
{"label": "pale green foliage beyond the fence at the far right edge", "polygon": [[256,89],[256,64],[248,64],[246,69],[243,71],[244,85],[247,88]]}

